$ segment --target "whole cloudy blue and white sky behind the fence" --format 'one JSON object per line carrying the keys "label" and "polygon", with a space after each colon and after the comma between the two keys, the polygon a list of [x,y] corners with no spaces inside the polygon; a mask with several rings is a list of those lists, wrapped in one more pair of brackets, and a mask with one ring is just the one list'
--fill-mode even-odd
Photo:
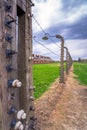
{"label": "whole cloudy blue and white sky behind the fence", "polygon": [[[87,58],[87,0],[32,0],[33,53],[59,59],[60,40],[64,37],[73,59]],[[44,41],[45,35],[49,40]]]}

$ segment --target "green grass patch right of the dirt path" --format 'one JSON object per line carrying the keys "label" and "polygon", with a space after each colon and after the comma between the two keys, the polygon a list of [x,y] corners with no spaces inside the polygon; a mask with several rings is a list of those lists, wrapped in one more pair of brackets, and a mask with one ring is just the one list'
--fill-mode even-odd
{"label": "green grass patch right of the dirt path", "polygon": [[80,84],[87,85],[87,63],[74,63],[74,73]]}

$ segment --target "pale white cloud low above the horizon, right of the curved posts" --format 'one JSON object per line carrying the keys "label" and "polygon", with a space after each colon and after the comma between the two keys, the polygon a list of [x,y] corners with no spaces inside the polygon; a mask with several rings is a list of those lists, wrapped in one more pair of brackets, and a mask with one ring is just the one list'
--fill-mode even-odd
{"label": "pale white cloud low above the horizon, right of the curved posts", "polygon": [[84,58],[87,55],[87,39],[66,40],[65,46],[68,47],[73,59]]}

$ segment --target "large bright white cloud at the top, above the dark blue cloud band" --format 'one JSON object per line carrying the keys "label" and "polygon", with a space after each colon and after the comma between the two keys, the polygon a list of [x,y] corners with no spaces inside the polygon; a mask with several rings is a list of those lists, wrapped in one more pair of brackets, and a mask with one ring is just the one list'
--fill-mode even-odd
{"label": "large bright white cloud at the top, above the dark blue cloud band", "polygon": [[[87,15],[87,5],[78,7],[67,7],[70,10],[63,11],[62,0],[33,0],[35,7],[33,14],[43,29],[47,29],[56,24],[73,24],[82,16]],[[41,31],[35,22],[33,22],[34,32]]]}

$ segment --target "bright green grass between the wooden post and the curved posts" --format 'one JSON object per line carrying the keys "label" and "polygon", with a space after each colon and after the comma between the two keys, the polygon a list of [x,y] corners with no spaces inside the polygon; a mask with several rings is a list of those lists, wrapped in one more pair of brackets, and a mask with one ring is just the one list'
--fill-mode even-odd
{"label": "bright green grass between the wooden post and the curved posts", "polygon": [[33,65],[35,98],[39,98],[59,76],[59,63]]}

